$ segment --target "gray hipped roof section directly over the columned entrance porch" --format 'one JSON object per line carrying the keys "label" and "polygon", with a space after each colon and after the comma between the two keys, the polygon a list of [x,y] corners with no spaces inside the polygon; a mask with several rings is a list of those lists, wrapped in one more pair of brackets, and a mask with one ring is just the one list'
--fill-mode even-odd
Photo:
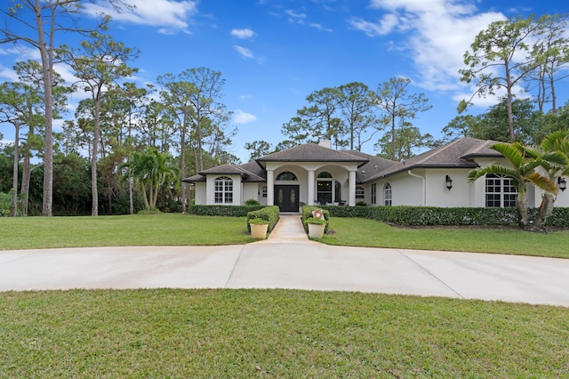
{"label": "gray hipped roof section directly over the columned entrance porch", "polygon": [[257,159],[263,168],[267,162],[355,162],[364,165],[369,159],[358,157],[346,151],[328,149],[316,143],[295,146]]}

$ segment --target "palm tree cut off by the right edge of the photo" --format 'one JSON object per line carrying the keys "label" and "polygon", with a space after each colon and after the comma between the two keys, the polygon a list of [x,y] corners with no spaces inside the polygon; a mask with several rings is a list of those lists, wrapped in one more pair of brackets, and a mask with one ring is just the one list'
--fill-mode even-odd
{"label": "palm tree cut off by the right edge of the photo", "polygon": [[[562,175],[569,175],[569,130],[560,130],[546,135],[539,148],[527,149],[527,155],[541,162],[541,167],[554,183]],[[546,191],[541,196],[540,210],[535,227],[543,228],[553,213],[556,193]]]}

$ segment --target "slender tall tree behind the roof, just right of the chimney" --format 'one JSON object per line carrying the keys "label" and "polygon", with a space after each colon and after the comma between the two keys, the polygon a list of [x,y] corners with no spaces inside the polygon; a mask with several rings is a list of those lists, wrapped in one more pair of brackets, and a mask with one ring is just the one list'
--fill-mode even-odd
{"label": "slender tall tree behind the roof, just right of the chimney", "polygon": [[417,113],[432,108],[424,93],[409,93],[411,79],[391,77],[389,81],[378,85],[376,105],[383,113],[382,123],[391,127],[391,159],[396,159],[397,124],[404,127],[405,120],[417,117]]}

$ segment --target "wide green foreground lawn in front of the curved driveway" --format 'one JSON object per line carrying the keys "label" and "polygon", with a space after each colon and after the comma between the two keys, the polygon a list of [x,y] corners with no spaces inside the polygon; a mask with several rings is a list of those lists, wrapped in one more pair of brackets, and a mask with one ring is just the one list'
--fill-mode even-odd
{"label": "wide green foreground lawn in front of the curved driveway", "polygon": [[560,307],[286,290],[0,294],[0,377],[565,377]]}

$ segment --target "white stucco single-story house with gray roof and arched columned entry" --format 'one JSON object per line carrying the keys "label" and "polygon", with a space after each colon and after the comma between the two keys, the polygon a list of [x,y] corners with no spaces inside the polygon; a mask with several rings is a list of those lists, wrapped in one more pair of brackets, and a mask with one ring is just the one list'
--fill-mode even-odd
{"label": "white stucco single-story house with gray roof and arched columned entry", "polygon": [[[298,212],[301,205],[355,206],[515,206],[516,190],[507,177],[488,175],[473,183],[477,167],[506,165],[489,149],[495,141],[461,138],[396,162],[354,150],[330,149],[330,142],[308,143],[260,157],[244,165],[219,165],[184,179],[193,183],[197,205],[243,205],[248,199]],[[567,178],[563,178],[567,180]],[[563,187],[563,185],[561,186]],[[529,206],[541,191],[528,190]],[[569,190],[556,206],[569,206]]]}

